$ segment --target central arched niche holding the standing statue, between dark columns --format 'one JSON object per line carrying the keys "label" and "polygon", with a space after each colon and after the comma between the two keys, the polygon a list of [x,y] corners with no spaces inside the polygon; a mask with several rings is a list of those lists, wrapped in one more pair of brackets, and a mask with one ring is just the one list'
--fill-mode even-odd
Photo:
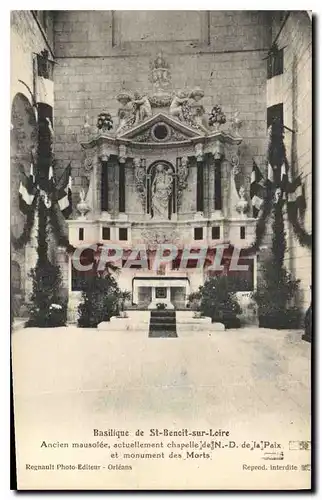
{"label": "central arched niche holding the standing statue, between dark columns", "polygon": [[155,161],[148,168],[147,211],[154,219],[171,219],[176,212],[176,172],[168,161]]}

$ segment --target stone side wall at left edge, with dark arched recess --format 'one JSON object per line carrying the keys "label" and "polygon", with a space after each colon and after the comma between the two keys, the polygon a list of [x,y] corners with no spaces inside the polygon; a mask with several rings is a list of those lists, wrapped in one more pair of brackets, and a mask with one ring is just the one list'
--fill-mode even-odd
{"label": "stone side wall at left edge, with dark arched recess", "polygon": [[[52,16],[48,14],[48,34],[52,31]],[[36,144],[36,120],[32,108],[30,91],[34,91],[33,59],[35,53],[50,49],[46,35],[42,33],[31,11],[11,11],[10,17],[10,97],[11,97],[11,229],[15,237],[23,230],[25,217],[19,210],[18,189],[19,165],[29,175],[30,151]],[[52,37],[51,37],[52,38]],[[22,83],[23,82],[23,83]],[[28,298],[31,282],[26,280],[30,268],[35,264],[35,232],[30,245],[19,251],[12,249],[11,258],[20,266],[21,301]],[[25,296],[25,297],[24,297]],[[14,311],[15,314],[18,311]]]}

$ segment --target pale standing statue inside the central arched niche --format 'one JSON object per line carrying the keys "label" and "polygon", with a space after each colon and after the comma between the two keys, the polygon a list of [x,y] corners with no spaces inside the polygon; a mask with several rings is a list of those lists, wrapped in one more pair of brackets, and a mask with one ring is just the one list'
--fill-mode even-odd
{"label": "pale standing statue inside the central arched niche", "polygon": [[164,165],[157,165],[151,186],[151,205],[154,219],[168,219],[169,199],[172,194],[173,173]]}

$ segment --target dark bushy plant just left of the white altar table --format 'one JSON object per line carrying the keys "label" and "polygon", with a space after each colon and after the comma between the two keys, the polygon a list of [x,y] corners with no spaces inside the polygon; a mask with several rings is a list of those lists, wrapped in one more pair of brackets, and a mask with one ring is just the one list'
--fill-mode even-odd
{"label": "dark bushy plant just left of the white altar table", "polygon": [[78,306],[78,326],[96,328],[119,314],[120,289],[115,278],[107,273],[86,276],[83,282],[82,302]]}

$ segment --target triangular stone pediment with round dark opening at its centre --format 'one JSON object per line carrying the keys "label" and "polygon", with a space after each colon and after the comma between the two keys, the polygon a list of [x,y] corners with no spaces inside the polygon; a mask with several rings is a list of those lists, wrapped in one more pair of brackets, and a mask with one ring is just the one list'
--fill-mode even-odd
{"label": "triangular stone pediment with round dark opening at its centre", "polygon": [[158,113],[145,122],[118,135],[118,139],[154,144],[189,141],[198,137],[204,137],[204,134],[165,113]]}

